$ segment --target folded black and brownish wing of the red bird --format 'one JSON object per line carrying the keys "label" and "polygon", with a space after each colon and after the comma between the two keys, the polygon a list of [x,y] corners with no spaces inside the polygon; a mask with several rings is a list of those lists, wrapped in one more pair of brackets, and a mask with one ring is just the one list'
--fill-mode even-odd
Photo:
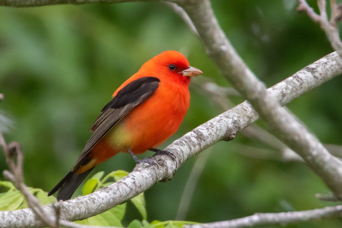
{"label": "folded black and brownish wing of the red bird", "polygon": [[143,77],[136,79],[124,86],[116,96],[101,110],[101,114],[91,126],[94,133],[89,138],[78,158],[74,171],[87,158],[88,152],[119,120],[129,113],[134,107],[146,100],[157,90],[160,80],[155,77]]}

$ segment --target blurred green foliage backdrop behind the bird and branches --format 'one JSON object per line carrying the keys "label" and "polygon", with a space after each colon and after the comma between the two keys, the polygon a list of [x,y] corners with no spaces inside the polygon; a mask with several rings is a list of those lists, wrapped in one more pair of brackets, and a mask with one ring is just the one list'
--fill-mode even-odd
{"label": "blurred green foliage backdrop behind the bird and branches", "polygon": [[[315,1],[308,2],[316,9]],[[212,7],[237,52],[267,86],[332,52],[325,33],[296,11],[294,0],[213,0]],[[165,50],[182,52],[204,72],[200,77],[229,86],[196,36],[163,3],[0,7],[0,92],[5,96],[0,109],[12,120],[2,129],[8,142],[23,146],[26,184],[49,191],[74,165],[92,122],[116,88]],[[323,143],[342,144],[341,86],[337,77],[288,105]],[[190,109],[179,131],[161,148],[222,112],[206,93],[194,86],[190,93]],[[234,98],[236,104],[241,101]],[[198,155],[210,153],[184,219],[214,222],[336,205],[315,198],[329,190],[304,164],[241,155],[236,152],[241,144],[269,148],[238,134]],[[176,219],[196,159],[185,162],[171,181],[146,191],[149,221]],[[91,175],[131,171],[134,164],[130,155],[120,153]],[[124,225],[135,218],[141,219],[129,204]],[[341,225],[341,219],[330,219],[286,227]]]}

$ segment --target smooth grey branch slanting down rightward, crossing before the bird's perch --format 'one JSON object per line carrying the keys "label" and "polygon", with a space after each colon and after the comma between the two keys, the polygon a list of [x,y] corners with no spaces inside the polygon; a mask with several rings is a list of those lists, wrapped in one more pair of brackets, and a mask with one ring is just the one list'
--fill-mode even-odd
{"label": "smooth grey branch slanting down rightward, crossing before the bird's perch", "polygon": [[[182,6],[193,21],[208,55],[222,71],[223,76],[252,104],[265,121],[268,130],[297,152],[334,194],[342,199],[342,162],[331,156],[314,135],[266,92],[265,85],[255,77],[225,37],[210,1],[188,0],[179,1],[177,4]],[[307,70],[322,75],[326,73],[321,67],[309,67]]]}

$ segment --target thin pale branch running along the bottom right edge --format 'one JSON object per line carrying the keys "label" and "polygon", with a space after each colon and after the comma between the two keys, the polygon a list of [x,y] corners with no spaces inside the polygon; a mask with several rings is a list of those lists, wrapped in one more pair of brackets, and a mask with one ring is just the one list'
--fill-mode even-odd
{"label": "thin pale branch running along the bottom right edge", "polygon": [[294,211],[281,213],[257,213],[244,218],[237,218],[233,220],[186,225],[186,228],[242,228],[256,225],[286,225],[298,222],[307,222],[310,220],[322,219],[332,216],[341,216],[342,205],[324,207],[322,209],[315,209],[309,211]]}

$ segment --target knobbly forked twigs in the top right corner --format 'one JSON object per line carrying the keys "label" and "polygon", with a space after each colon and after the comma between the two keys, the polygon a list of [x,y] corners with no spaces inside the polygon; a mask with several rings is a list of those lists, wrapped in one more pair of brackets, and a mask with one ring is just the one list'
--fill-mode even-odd
{"label": "knobbly forked twigs in the top right corner", "polygon": [[299,6],[298,11],[304,11],[307,15],[314,21],[319,23],[320,27],[327,34],[332,48],[338,51],[339,55],[342,56],[342,42],[339,37],[339,31],[337,29],[337,22],[342,19],[342,5],[336,4],[336,0],[330,0],[331,18],[330,21],[326,12],[326,1],[318,0],[318,10],[320,15],[315,13],[315,11],[310,7],[305,0],[297,0]]}

